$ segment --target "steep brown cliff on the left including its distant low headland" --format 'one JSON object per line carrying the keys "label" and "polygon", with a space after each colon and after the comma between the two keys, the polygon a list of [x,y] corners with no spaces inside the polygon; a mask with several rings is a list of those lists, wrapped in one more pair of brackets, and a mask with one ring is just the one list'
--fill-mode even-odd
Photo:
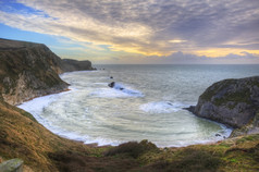
{"label": "steep brown cliff on the left including its distant low headland", "polygon": [[18,105],[67,89],[59,74],[92,70],[89,61],[61,60],[41,44],[0,39],[0,99]]}

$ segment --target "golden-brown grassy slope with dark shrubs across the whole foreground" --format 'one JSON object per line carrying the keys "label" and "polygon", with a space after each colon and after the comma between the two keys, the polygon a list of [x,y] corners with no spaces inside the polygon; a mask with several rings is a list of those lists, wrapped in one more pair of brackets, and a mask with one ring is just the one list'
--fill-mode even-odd
{"label": "golden-brown grassy slope with dark shrubs across the whole foreground", "polygon": [[1,101],[0,157],[21,158],[37,172],[259,171],[259,134],[183,148],[159,149],[147,140],[92,147],[61,138],[32,114]]}

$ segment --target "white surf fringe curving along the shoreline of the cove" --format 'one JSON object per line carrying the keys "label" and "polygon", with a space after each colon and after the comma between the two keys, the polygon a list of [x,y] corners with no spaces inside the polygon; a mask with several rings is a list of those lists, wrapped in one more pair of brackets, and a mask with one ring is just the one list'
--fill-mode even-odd
{"label": "white surf fringe curving along the shoreline of the cove", "polygon": [[[79,72],[79,73],[85,73],[85,72],[92,72],[92,71],[74,71],[74,72]],[[74,72],[65,72],[65,73],[62,73],[60,74],[60,76],[62,75],[65,75],[65,74],[69,74],[69,73],[74,73]],[[70,84],[70,83],[69,83]],[[45,107],[47,107],[49,103],[51,103],[52,101],[54,101],[54,98],[52,99],[52,97],[59,97],[59,96],[62,96],[63,94],[70,94],[71,91],[73,91],[72,88],[67,88],[67,90],[65,91],[60,91],[60,93],[57,93],[57,94],[51,94],[51,95],[45,95],[45,96],[41,96],[41,97],[37,97],[35,98],[33,101],[25,101],[24,103],[17,106],[18,108],[22,108],[26,111],[28,111],[30,114],[34,115],[34,118],[41,124],[44,125],[47,130],[51,131],[53,134],[58,135],[58,136],[61,136],[63,138],[67,138],[67,139],[72,139],[72,140],[75,140],[75,142],[79,142],[79,143],[84,143],[85,145],[97,145],[96,147],[103,147],[103,146],[119,146],[120,144],[125,144],[127,142],[134,142],[134,140],[125,140],[123,143],[112,143],[112,140],[109,140],[108,143],[107,142],[103,142],[103,139],[101,138],[97,138],[97,139],[87,139],[88,136],[87,135],[78,135],[76,133],[73,133],[73,132],[67,132],[65,130],[62,130],[60,127],[55,127],[53,125],[51,125],[51,123],[49,122],[46,122],[45,119],[40,118],[39,113],[44,110]],[[25,107],[25,108],[24,108]],[[26,108],[29,108],[29,109],[26,109]],[[33,111],[32,111],[33,109]],[[193,114],[192,114],[193,115]],[[202,119],[202,120],[207,120],[207,119]],[[229,131],[229,130],[232,130],[232,128],[229,128],[226,127],[224,124],[221,124],[221,123],[218,123],[218,122],[214,122],[214,121],[211,121],[211,120],[208,120],[212,123],[215,123],[217,125],[220,125],[226,133],[227,137],[231,135],[231,132],[232,131]],[[143,137],[143,139],[146,139],[145,137]],[[218,136],[214,136],[214,139],[205,139],[205,140],[196,140],[196,142],[190,142],[190,143],[183,143],[183,144],[172,144],[170,146],[159,146],[157,145],[158,147],[160,148],[165,148],[165,147],[177,147],[177,148],[181,148],[181,147],[187,147],[187,146],[190,146],[190,145],[207,145],[207,144],[215,144],[218,142],[221,142],[225,138],[222,138],[221,137],[218,137]]]}

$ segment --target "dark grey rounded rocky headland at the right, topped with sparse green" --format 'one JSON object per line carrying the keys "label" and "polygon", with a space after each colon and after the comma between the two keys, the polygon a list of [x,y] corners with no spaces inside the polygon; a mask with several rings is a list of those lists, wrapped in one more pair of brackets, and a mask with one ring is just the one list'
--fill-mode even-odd
{"label": "dark grey rounded rocky headland at the right, topped with sparse green", "polygon": [[259,76],[213,84],[199,97],[192,111],[233,127],[248,125],[259,112]]}

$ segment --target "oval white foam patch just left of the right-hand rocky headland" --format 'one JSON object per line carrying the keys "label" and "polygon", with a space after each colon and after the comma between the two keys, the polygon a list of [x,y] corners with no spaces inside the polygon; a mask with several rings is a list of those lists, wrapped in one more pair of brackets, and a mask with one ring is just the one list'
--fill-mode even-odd
{"label": "oval white foam patch just left of the right-hand rocky headland", "polygon": [[139,107],[140,110],[148,113],[171,113],[182,110],[184,105],[178,102],[170,102],[170,101],[153,101],[141,105]]}

